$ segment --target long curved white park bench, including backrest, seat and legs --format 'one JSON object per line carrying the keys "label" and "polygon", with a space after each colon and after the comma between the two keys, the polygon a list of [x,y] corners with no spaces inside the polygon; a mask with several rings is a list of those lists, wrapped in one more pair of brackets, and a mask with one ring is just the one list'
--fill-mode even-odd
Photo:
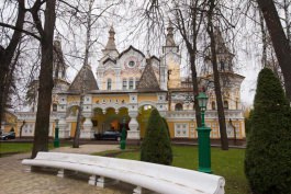
{"label": "long curved white park bench, including backrest, seat and legs", "polygon": [[97,157],[88,155],[38,152],[35,159],[24,159],[22,164],[33,168],[46,167],[58,170],[64,178],[70,171],[89,174],[88,183],[104,187],[119,181],[137,187],[134,194],[147,189],[163,194],[224,194],[222,176],[193,170],[149,162]]}

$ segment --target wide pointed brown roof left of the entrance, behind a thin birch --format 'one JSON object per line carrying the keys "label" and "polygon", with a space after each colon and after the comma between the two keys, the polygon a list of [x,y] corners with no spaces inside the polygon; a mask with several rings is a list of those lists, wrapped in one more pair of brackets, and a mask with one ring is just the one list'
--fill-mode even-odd
{"label": "wide pointed brown roof left of the entrance, behind a thin birch", "polygon": [[82,90],[85,90],[85,92],[91,90],[99,90],[93,72],[89,65],[82,66],[82,68],[74,79],[72,83],[70,84],[68,91],[81,93]]}

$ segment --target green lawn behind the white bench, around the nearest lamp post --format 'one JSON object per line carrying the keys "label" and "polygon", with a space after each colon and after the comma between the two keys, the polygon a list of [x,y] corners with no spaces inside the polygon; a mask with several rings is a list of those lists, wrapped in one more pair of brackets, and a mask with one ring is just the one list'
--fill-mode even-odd
{"label": "green lawn behind the white bench, around the nearest lamp post", "polygon": [[[198,148],[195,146],[172,146],[172,166],[184,169],[198,169]],[[116,152],[116,151],[115,151]],[[109,152],[104,152],[108,155]],[[139,160],[139,151],[126,150],[117,158]],[[226,180],[226,194],[250,194],[244,174],[245,149],[230,149],[222,151],[220,148],[211,149],[213,174],[222,175]]]}

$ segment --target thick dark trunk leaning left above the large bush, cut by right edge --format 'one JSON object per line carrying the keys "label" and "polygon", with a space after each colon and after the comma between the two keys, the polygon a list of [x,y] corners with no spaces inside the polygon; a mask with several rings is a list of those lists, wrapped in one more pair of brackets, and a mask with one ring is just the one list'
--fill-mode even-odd
{"label": "thick dark trunk leaning left above the large bush, cut by right edge", "polygon": [[272,46],[284,78],[284,89],[291,101],[291,49],[272,0],[257,0],[265,18]]}

